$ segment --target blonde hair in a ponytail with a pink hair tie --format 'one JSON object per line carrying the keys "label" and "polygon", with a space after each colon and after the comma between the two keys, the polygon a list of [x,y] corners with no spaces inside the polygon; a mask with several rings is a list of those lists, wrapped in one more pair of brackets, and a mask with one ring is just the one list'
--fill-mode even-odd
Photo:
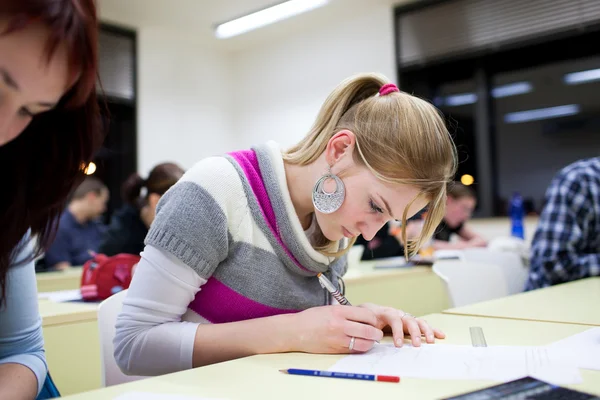
{"label": "blonde hair in a ponytail with a pink hair tie", "polygon": [[[446,186],[456,171],[456,148],[441,113],[430,103],[404,92],[378,95],[389,83],[380,74],[359,74],[340,83],[327,97],[310,132],[288,149],[283,158],[290,164],[313,163],[337,132],[347,129],[356,137],[353,154],[387,183],[409,184],[419,190],[402,214],[405,253],[414,254],[433,235],[446,206]],[[421,235],[406,240],[408,209],[419,197],[429,202]],[[352,244],[352,243],[351,243]],[[319,232],[316,250],[340,256],[337,243]]]}

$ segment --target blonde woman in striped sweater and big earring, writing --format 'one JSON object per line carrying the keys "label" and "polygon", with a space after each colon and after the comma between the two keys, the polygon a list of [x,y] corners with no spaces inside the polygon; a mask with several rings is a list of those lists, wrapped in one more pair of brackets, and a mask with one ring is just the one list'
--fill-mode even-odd
{"label": "blonde woman in striped sweater and big earring, writing", "polygon": [[[390,328],[415,346],[443,333],[403,311],[335,306],[345,253],[429,204],[414,252],[444,215],[456,149],[431,104],[361,74],[329,95],[296,146],[197,163],[160,200],[122,311],[115,359],[157,375],[262,353],[354,353]],[[391,205],[391,207],[390,207]],[[351,300],[351,299],[350,299]]]}

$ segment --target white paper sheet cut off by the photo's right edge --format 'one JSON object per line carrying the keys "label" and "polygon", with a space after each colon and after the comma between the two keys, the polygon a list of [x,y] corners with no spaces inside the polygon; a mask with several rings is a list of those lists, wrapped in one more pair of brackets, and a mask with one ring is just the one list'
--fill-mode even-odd
{"label": "white paper sheet cut off by the photo's right edge", "polygon": [[591,328],[577,335],[552,343],[553,351],[570,357],[583,369],[600,370],[600,328]]}

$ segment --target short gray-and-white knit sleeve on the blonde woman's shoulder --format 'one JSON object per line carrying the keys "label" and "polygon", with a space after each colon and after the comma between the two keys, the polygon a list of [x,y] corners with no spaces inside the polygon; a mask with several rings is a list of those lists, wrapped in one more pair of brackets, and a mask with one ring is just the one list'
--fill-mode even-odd
{"label": "short gray-and-white knit sleeve on the blonde woman's shoulder", "polygon": [[208,279],[228,254],[247,213],[240,178],[223,157],[196,164],[159,201],[145,244],[172,254]]}

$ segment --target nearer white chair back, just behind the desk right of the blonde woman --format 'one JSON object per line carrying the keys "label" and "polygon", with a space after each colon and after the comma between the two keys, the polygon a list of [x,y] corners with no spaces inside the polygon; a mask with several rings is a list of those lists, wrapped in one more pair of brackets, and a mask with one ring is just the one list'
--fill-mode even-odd
{"label": "nearer white chair back, just behind the desk right of the blonde woman", "polygon": [[439,260],[433,264],[448,293],[451,307],[460,307],[508,295],[501,267],[463,260]]}

